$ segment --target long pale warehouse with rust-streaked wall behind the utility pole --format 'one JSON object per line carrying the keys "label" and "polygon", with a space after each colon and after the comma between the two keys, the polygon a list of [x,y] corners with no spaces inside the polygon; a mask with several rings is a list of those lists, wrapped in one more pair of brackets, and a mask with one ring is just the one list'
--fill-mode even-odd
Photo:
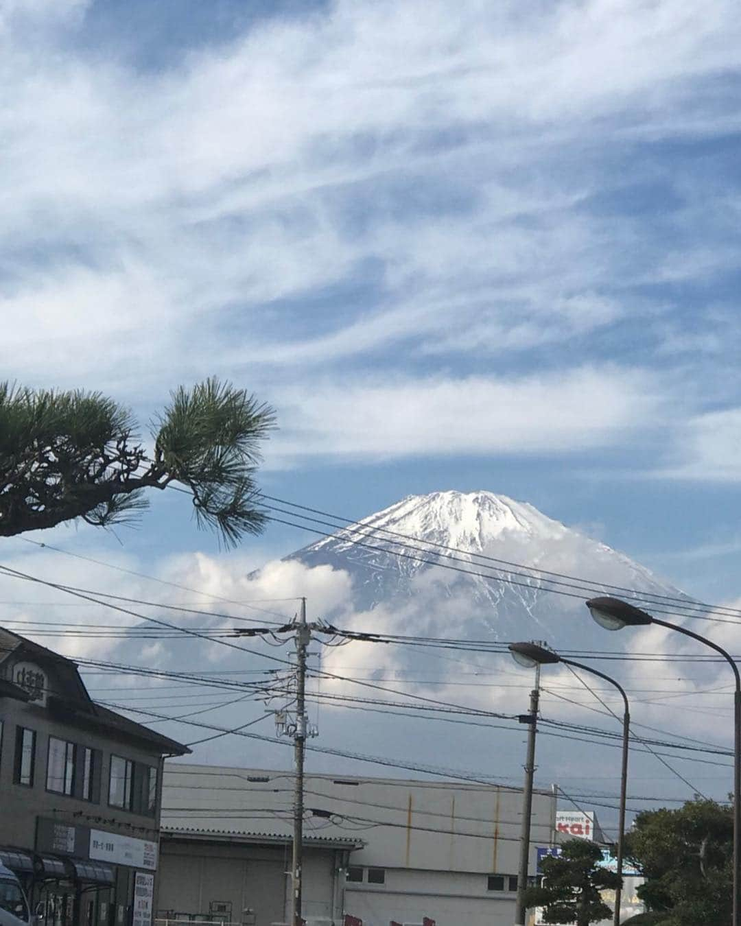
{"label": "long pale warehouse with rust-streaked wall behind the utility pole", "polygon": [[[425,919],[436,926],[511,926],[521,799],[518,789],[496,785],[307,774],[305,835],[312,860],[304,871],[303,912],[309,926],[340,926],[345,917],[363,926]],[[232,885],[223,922],[288,921],[290,773],[168,762],[162,805],[158,919],[213,916],[212,901],[219,898],[196,897],[197,878],[222,883],[225,898]],[[555,818],[555,796],[536,791],[533,877],[536,845],[552,843]],[[189,841],[187,862],[183,840]],[[262,840],[258,854],[245,852],[245,840]],[[269,840],[281,846],[278,852],[267,851]],[[218,855],[213,845],[220,846]],[[230,865],[232,876],[221,881]],[[250,887],[256,881],[270,881],[280,903],[263,910]],[[281,919],[275,919],[280,907]]]}

